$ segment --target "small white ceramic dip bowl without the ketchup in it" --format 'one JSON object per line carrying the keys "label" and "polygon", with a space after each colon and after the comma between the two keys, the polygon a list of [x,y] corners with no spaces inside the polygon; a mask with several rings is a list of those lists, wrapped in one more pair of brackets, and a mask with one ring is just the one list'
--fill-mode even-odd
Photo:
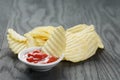
{"label": "small white ceramic dip bowl without the ketchup in it", "polygon": [[62,54],[57,59],[57,61],[47,63],[47,64],[34,64],[34,63],[30,63],[30,62],[26,61],[25,54],[27,54],[28,52],[33,51],[35,49],[41,49],[41,48],[40,47],[31,47],[31,48],[24,49],[18,54],[18,59],[20,61],[22,61],[23,63],[25,63],[26,65],[28,65],[28,67],[30,67],[34,70],[37,70],[37,71],[48,71],[48,70],[52,69],[54,66],[56,66],[64,58],[64,55]]}

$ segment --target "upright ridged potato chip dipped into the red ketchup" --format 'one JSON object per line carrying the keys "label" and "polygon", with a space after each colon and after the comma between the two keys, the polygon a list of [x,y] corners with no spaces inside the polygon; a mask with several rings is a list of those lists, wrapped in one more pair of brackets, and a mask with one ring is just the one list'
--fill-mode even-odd
{"label": "upright ridged potato chip dipped into the red ketchup", "polygon": [[42,51],[53,56],[59,57],[65,50],[65,30],[62,26],[57,27],[42,47]]}

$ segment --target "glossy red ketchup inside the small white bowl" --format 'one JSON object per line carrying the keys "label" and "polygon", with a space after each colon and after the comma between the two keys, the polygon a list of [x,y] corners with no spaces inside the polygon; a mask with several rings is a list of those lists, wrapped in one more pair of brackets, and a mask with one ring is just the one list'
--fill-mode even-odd
{"label": "glossy red ketchup inside the small white bowl", "polygon": [[26,55],[26,60],[30,63],[51,63],[56,61],[58,58],[45,54],[41,50],[34,50],[32,52],[28,52]]}

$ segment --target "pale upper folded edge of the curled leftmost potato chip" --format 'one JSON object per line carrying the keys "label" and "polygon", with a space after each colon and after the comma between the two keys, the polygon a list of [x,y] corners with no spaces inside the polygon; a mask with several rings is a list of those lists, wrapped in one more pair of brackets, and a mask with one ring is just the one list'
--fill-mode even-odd
{"label": "pale upper folded edge of the curled leftmost potato chip", "polygon": [[10,35],[10,37],[16,41],[26,41],[27,39],[24,36],[21,36],[20,34],[18,34],[16,31],[14,31],[13,29],[8,29],[8,34]]}

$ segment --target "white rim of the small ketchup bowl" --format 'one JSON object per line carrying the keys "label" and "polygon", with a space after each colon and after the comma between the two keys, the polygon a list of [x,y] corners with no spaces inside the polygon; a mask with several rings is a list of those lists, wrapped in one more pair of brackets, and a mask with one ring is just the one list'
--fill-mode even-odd
{"label": "white rim of the small ketchup bowl", "polygon": [[56,61],[51,62],[51,63],[47,63],[47,64],[34,64],[34,63],[27,62],[26,60],[24,60],[23,58],[21,58],[21,56],[23,56],[27,52],[32,51],[34,49],[41,49],[41,47],[30,47],[30,48],[23,49],[22,51],[20,51],[18,53],[18,59],[21,62],[23,62],[23,63],[25,63],[27,65],[30,65],[30,66],[51,66],[51,65],[55,65],[55,64],[59,63],[64,58],[64,54],[61,54],[61,56]]}

